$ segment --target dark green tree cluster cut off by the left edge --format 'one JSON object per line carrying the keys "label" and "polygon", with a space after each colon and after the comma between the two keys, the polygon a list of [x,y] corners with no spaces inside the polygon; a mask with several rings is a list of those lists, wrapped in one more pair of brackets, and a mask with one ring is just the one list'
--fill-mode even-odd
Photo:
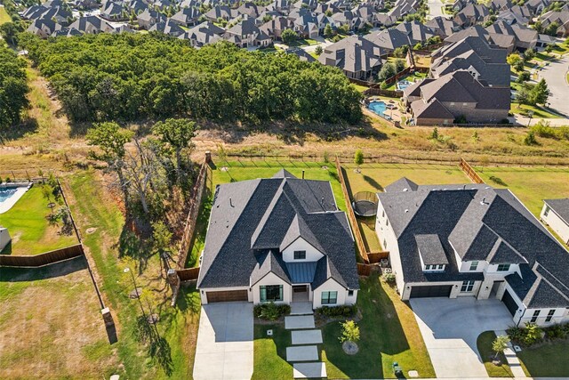
{"label": "dark green tree cluster cut off by the left edge", "polygon": [[0,129],[20,123],[28,107],[26,62],[12,50],[0,45]]}

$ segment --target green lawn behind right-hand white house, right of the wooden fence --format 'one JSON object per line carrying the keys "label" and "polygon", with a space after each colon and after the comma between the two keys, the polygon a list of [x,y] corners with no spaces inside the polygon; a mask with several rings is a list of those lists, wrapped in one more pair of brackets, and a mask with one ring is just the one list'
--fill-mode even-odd
{"label": "green lawn behind right-hand white house, right of the wooden fence", "polygon": [[563,167],[481,167],[477,173],[489,185],[507,187],[539,218],[542,199],[569,196],[569,169]]}

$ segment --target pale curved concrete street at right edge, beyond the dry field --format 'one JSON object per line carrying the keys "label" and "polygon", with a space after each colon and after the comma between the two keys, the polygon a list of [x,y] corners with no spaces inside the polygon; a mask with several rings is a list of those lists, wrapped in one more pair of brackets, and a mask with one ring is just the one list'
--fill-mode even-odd
{"label": "pale curved concrete street at right edge, beyond the dry field", "polygon": [[538,71],[539,77],[544,78],[549,88],[549,108],[555,109],[558,113],[569,117],[569,84],[565,74],[569,69],[569,56],[565,55],[562,59],[549,62],[549,65]]}

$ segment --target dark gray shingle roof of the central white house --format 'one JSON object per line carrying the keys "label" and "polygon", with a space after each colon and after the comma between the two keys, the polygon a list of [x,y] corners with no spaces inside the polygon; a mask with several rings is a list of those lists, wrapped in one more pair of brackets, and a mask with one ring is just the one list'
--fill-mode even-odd
{"label": "dark gray shingle roof of the central white house", "polygon": [[281,268],[290,281],[280,249],[301,236],[325,255],[313,287],[333,278],[357,288],[354,240],[330,182],[301,180],[285,171],[277,175],[217,187],[198,287],[249,286],[250,278],[260,279],[268,268]]}

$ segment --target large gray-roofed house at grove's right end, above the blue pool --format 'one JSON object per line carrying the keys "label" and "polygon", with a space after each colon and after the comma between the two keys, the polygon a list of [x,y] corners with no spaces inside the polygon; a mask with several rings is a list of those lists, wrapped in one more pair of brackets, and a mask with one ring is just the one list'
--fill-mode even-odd
{"label": "large gray-roofed house at grove's right end, above the blue pool", "polygon": [[318,61],[340,68],[347,77],[369,79],[381,69],[381,48],[364,36],[349,36],[326,46]]}

